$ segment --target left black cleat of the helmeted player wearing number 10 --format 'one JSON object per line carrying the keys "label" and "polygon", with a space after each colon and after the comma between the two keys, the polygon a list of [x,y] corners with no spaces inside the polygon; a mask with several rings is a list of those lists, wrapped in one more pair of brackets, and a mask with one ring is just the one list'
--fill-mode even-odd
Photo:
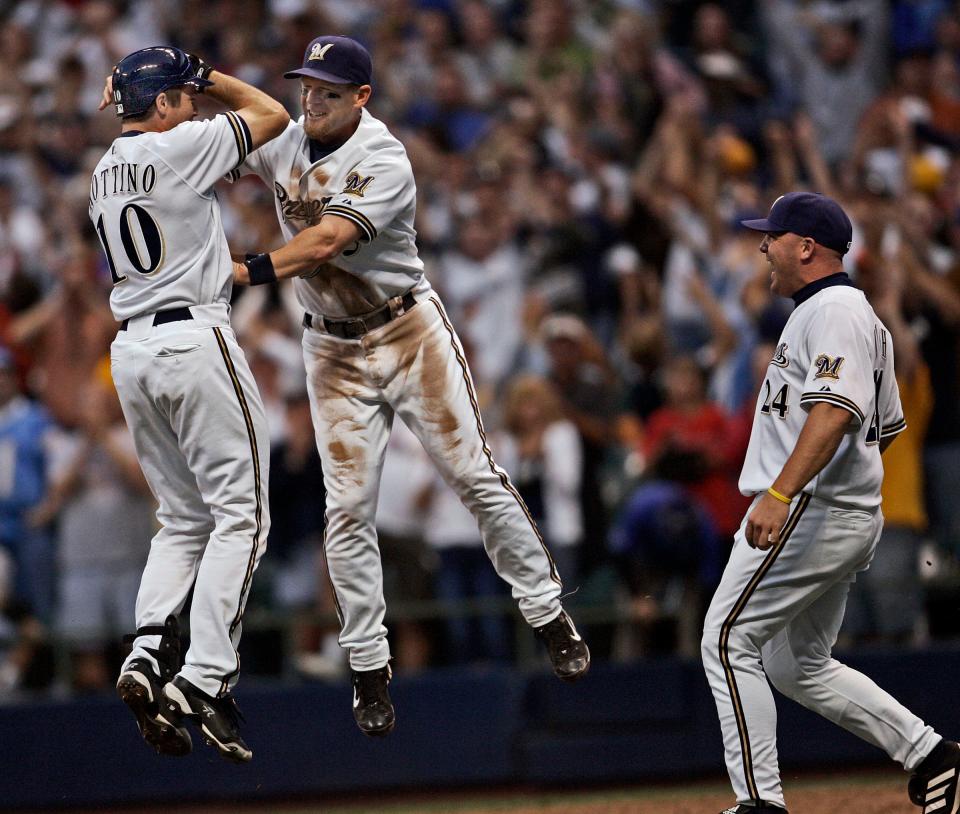
{"label": "left black cleat of the helmeted player wearing number 10", "polygon": [[163,685],[180,669],[180,625],[170,615],[162,625],[147,625],[124,636],[132,644],[138,636],[160,636],[156,649],[145,648],[157,660],[159,672],[148,659],[131,661],[117,679],[117,695],[137,719],[143,739],[161,755],[181,757],[190,754],[190,733],[178,722],[170,721],[161,710]]}

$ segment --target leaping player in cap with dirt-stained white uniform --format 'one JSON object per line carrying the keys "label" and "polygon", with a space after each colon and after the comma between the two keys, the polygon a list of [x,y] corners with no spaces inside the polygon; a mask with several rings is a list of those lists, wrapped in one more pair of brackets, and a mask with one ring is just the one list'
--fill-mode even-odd
{"label": "leaping player in cap with dirt-stained white uniform", "polygon": [[374,528],[394,415],[414,432],[476,517],[487,554],[572,681],[590,665],[560,605],[560,577],[530,512],[487,445],[463,347],[423,274],[416,186],[403,145],[366,109],[371,59],[347,37],[318,37],[300,67],[303,116],[251,153],[276,195],[285,246],[237,270],[252,284],[293,277],[303,357],[327,490],[324,551],[350,654],[353,713],[367,735],[395,716]]}

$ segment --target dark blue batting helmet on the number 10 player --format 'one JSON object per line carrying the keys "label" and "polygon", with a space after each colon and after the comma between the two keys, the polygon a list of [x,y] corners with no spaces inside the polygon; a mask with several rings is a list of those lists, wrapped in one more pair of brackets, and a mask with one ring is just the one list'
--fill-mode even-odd
{"label": "dark blue batting helmet on the number 10 player", "polygon": [[183,51],[168,45],[142,48],[121,59],[113,69],[113,103],[117,115],[138,116],[165,90],[183,85],[205,88],[209,79],[196,74],[197,66]]}

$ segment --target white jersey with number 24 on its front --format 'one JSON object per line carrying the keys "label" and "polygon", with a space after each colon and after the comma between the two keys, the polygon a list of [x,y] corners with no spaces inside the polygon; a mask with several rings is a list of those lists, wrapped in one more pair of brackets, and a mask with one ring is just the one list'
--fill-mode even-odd
{"label": "white jersey with number 24 on its front", "polygon": [[745,495],[765,491],[790,457],[817,402],[850,412],[833,459],[804,487],[831,503],[880,505],[879,441],[906,428],[893,372],[893,343],[863,292],[834,285],[801,302],[783,329],[757,396]]}

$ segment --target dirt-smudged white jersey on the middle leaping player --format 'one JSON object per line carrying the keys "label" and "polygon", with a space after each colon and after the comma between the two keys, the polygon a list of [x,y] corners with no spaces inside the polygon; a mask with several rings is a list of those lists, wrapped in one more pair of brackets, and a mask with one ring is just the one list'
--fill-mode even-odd
{"label": "dirt-smudged white jersey on the middle leaping player", "polygon": [[417,188],[403,145],[364,109],[347,142],[312,161],[302,125],[302,117],[290,122],[231,174],[253,172],[273,182],[287,240],[315,226],[323,214],[360,227],[360,240],[333,263],[347,274],[294,279],[300,304],[312,314],[343,317],[372,311],[408,290],[429,292],[413,228]]}

